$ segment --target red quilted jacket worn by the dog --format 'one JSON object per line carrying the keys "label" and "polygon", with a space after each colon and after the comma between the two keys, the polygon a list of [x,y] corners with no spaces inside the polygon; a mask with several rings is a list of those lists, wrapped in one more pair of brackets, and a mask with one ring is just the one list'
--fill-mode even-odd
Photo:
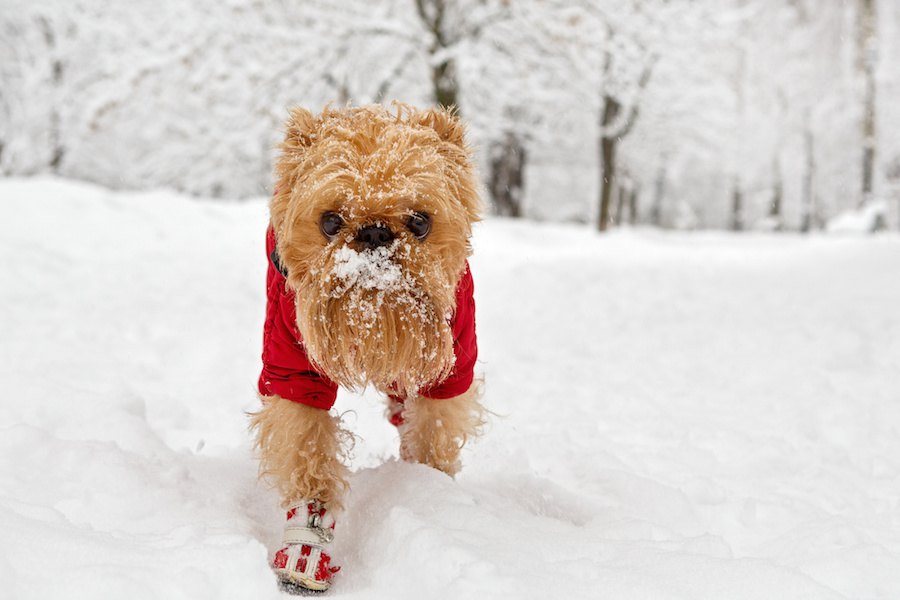
{"label": "red quilted jacket worn by the dog", "polygon": [[[266,255],[275,250],[275,233],[266,233]],[[266,324],[263,332],[263,369],[259,393],[278,395],[315,408],[330,409],[337,396],[337,384],[319,373],[306,356],[297,329],[294,292],[285,286],[284,275],[269,260],[266,274]],[[456,288],[456,313],[451,321],[456,363],[444,381],[419,390],[426,398],[454,398],[469,389],[478,356],[475,337],[474,284],[469,265]]]}

